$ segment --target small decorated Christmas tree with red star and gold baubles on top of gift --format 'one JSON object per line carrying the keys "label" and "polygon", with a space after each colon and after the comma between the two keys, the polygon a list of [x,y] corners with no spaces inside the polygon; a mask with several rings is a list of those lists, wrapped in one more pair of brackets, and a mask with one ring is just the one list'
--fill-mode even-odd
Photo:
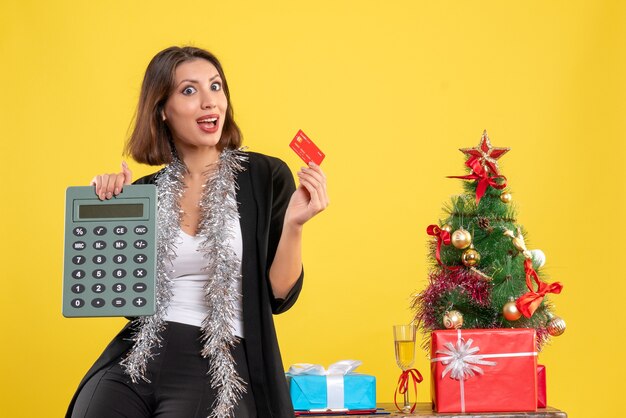
{"label": "small decorated Christmas tree with red star and gold baubles on top of gift", "polygon": [[427,228],[432,267],[413,301],[416,322],[427,335],[446,328],[534,328],[541,347],[565,331],[546,297],[563,286],[546,282],[545,255],[526,248],[498,167],[509,148],[493,147],[485,131],[476,147],[461,151],[470,173],[449,176],[464,180],[464,193],[446,205],[444,221]]}

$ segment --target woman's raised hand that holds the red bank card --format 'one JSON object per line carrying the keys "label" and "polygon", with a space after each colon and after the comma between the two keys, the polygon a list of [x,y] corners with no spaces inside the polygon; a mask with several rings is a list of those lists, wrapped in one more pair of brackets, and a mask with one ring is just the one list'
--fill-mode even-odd
{"label": "woman's raised hand that holds the red bank card", "polygon": [[298,171],[300,186],[291,196],[285,224],[302,226],[306,221],[326,209],[329,203],[326,192],[326,175],[315,163]]}

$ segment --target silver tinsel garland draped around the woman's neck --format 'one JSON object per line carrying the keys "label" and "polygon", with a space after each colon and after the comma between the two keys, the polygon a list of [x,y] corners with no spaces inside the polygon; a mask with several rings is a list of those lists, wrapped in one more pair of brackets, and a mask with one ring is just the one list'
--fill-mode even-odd
{"label": "silver tinsel garland draped around the woman's neck", "polygon": [[[240,150],[224,150],[217,170],[209,175],[200,201],[202,220],[197,235],[203,238],[199,251],[207,260],[205,270],[209,277],[205,285],[208,315],[202,322],[201,354],[209,359],[211,387],[217,389],[210,418],[233,416],[234,406],[246,392],[245,382],[235,370],[230,351],[238,341],[233,333],[232,321],[238,298],[237,284],[241,280],[241,260],[229,244],[233,236],[229,223],[239,219],[236,179],[237,173],[244,170],[242,162],[247,158]],[[185,165],[175,157],[156,180],[156,313],[133,321],[135,344],[120,363],[135,383],[139,380],[149,382],[146,367],[154,357],[154,348],[161,344],[160,332],[165,328],[163,317],[172,296],[172,279],[166,267],[176,257],[175,240],[182,216],[179,201],[185,188],[183,176],[186,170]]]}

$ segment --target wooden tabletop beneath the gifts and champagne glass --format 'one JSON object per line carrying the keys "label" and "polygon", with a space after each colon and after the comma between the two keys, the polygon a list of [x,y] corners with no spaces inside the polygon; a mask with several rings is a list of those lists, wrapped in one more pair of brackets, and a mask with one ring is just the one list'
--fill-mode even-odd
{"label": "wooden tabletop beneath the gifts and champagne glass", "polygon": [[[317,415],[317,417],[327,417],[327,418],[337,418],[338,416],[350,417],[350,418],[372,418],[372,417],[421,417],[421,418],[432,418],[432,417],[459,417],[459,418],[567,418],[567,413],[552,408],[542,408],[538,409],[537,412],[476,412],[476,413],[465,413],[465,414],[438,414],[432,410],[430,402],[420,402],[417,404],[415,411],[412,414],[405,415],[398,412],[396,406],[392,403],[388,404],[378,404],[378,408],[383,408],[385,412],[390,412],[390,415]],[[306,417],[306,415],[302,415],[302,417]]]}

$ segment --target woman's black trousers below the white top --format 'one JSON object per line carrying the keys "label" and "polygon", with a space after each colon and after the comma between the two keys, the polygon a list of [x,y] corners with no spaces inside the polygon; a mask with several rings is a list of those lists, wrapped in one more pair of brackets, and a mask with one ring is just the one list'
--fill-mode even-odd
{"label": "woman's black trousers below the white top", "polygon": [[[72,418],[205,418],[216,390],[211,389],[208,359],[200,355],[200,328],[168,322],[163,345],[148,362],[150,383],[132,383],[115,361],[85,384]],[[236,405],[235,417],[255,418],[254,394],[242,339],[231,350],[247,392]]]}

